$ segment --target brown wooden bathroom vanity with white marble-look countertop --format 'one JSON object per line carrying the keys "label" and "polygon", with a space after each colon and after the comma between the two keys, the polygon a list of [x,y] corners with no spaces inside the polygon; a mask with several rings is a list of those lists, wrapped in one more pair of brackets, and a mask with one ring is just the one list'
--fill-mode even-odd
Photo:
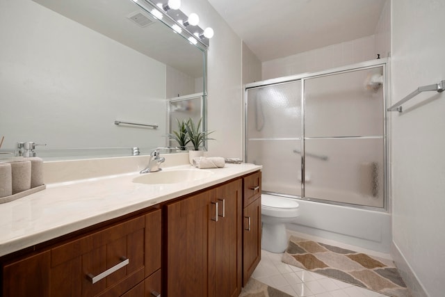
{"label": "brown wooden bathroom vanity with white marble-look countertop", "polygon": [[236,297],[261,255],[260,169],[49,184],[0,205],[2,296]]}

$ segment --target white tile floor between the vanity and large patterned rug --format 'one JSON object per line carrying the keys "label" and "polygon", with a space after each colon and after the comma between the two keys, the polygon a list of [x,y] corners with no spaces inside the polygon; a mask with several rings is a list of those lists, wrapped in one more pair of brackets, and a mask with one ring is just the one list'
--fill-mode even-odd
{"label": "white tile floor between the vanity and large patterned rug", "polygon": [[[252,277],[296,297],[383,297],[380,293],[340,282],[281,262],[282,254],[261,251]],[[385,296],[386,297],[386,296]]]}

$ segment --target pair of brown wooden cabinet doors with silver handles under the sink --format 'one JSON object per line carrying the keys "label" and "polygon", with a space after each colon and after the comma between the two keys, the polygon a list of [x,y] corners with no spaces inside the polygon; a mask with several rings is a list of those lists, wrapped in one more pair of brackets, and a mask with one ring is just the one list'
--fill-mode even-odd
{"label": "pair of brown wooden cabinet doors with silver handles under the sink", "polygon": [[165,296],[241,292],[242,179],[165,205]]}

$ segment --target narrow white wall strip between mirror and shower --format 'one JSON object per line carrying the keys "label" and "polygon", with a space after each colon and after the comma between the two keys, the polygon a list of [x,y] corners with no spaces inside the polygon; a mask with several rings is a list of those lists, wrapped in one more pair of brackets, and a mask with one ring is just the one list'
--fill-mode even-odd
{"label": "narrow white wall strip between mirror and shower", "polygon": [[213,28],[207,53],[208,129],[216,141],[209,141],[209,155],[242,156],[241,38],[234,33],[207,0],[183,1],[186,15],[197,13],[200,27]]}

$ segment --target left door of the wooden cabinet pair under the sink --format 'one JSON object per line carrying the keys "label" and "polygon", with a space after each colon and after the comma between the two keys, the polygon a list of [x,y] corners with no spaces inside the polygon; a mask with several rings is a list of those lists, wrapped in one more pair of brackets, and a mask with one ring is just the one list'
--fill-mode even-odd
{"label": "left door of the wooden cabinet pair under the sink", "polygon": [[209,221],[211,214],[215,214],[210,203],[211,192],[165,206],[165,296],[207,296]]}

